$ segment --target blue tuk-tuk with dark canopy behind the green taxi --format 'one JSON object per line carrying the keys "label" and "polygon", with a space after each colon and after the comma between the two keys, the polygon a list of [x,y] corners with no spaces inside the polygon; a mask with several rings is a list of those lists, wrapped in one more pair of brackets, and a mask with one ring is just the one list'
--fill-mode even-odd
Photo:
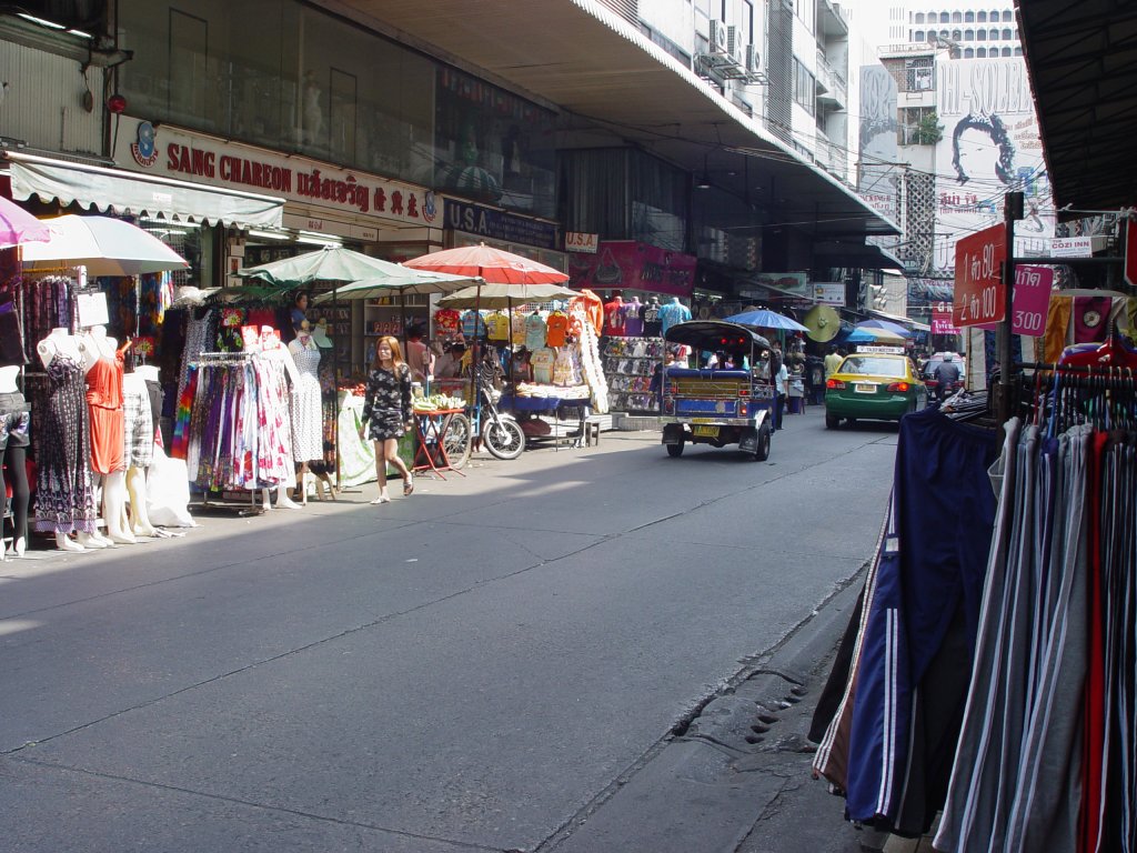
{"label": "blue tuk-tuk with dark canopy behind the green taxi", "polygon": [[[719,320],[678,323],[663,338],[659,422],[667,454],[682,455],[688,442],[712,447],[737,444],[747,458],[769,458],[773,381],[780,367],[770,342],[745,325]],[[729,356],[733,366],[667,366],[666,351],[677,345],[691,347],[696,357],[703,351]]]}

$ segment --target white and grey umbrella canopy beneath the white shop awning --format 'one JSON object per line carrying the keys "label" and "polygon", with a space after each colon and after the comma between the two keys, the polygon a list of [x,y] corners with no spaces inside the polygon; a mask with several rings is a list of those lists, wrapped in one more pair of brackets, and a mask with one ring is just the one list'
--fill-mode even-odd
{"label": "white and grey umbrella canopy beneath the white shop awning", "polygon": [[136,225],[108,216],[43,220],[50,239],[25,243],[25,270],[85,266],[89,275],[140,275],[184,270],[185,258]]}

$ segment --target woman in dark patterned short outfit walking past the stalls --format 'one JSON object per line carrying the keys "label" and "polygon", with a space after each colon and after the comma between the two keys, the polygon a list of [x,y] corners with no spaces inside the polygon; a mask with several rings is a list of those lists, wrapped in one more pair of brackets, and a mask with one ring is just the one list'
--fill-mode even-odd
{"label": "woman in dark patterned short outfit walking past the stalls", "polygon": [[410,408],[410,367],[402,361],[399,341],[390,336],[375,343],[375,358],[367,374],[367,391],[363,403],[363,420],[359,438],[367,437],[375,442],[375,477],[379,480],[379,497],[373,504],[388,504],[387,466],[393,465],[402,474],[402,495],[415,490],[410,471],[399,458],[399,439],[414,425]]}

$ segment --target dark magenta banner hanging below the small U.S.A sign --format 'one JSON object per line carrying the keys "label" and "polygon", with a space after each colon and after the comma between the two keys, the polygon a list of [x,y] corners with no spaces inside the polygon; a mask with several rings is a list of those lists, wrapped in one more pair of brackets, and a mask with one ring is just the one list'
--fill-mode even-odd
{"label": "dark magenta banner hanging below the small U.S.A sign", "polygon": [[596,255],[568,255],[568,285],[689,297],[695,287],[695,264],[694,255],[634,240],[601,240]]}

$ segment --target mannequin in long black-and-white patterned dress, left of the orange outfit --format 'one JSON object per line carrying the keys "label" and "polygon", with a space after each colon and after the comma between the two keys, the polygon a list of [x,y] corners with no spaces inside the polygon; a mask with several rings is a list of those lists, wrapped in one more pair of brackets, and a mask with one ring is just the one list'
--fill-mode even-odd
{"label": "mannequin in long black-and-white patterned dress, left of the orange outfit", "polygon": [[35,350],[50,383],[36,450],[35,525],[55,533],[60,550],[84,550],[69,537],[75,531],[93,547],[106,547],[109,541],[92,538],[97,529],[94,482],[78,340],[57,328]]}

